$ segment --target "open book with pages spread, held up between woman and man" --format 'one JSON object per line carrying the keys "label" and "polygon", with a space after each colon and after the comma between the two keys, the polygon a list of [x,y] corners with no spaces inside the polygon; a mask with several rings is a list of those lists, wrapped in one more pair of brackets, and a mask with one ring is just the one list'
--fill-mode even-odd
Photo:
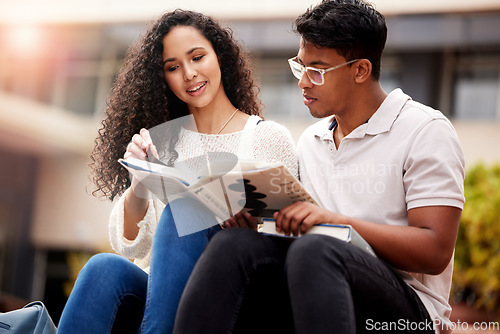
{"label": "open book with pages spread, held up between woman and man", "polygon": [[254,217],[272,217],[275,211],[297,201],[317,205],[300,182],[282,164],[261,161],[212,161],[194,175],[188,168],[135,158],[119,162],[161,201],[189,197],[203,203],[225,221],[241,210]]}

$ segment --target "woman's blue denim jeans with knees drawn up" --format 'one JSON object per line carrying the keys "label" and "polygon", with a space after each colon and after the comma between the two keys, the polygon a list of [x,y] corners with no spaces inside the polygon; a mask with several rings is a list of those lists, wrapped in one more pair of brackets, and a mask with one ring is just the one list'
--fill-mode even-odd
{"label": "woman's blue denim jeans with knees drawn up", "polygon": [[[189,200],[176,204],[182,219],[213,219]],[[185,212],[185,214],[184,214]],[[58,333],[171,333],[177,306],[193,267],[215,225],[183,237],[177,235],[170,205],[156,228],[148,275],[116,254],[97,254],[84,266],[59,321]]]}

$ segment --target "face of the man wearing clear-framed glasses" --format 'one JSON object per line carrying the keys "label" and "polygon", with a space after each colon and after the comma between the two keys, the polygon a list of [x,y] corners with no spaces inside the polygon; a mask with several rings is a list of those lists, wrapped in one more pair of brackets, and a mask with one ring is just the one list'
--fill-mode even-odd
{"label": "face of the man wearing clear-framed glasses", "polygon": [[[301,40],[298,62],[304,66],[327,69],[346,62],[335,49],[317,47]],[[341,115],[349,104],[349,92],[354,83],[354,66],[342,66],[324,73],[324,84],[314,85],[307,74],[299,80],[304,104],[313,117],[323,118],[333,114]]]}

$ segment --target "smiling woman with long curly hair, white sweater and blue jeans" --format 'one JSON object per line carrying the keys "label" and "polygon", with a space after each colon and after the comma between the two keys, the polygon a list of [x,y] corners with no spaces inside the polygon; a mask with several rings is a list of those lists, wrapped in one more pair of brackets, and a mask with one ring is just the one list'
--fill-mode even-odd
{"label": "smiling woman with long curly hair, white sweater and blue jeans", "polygon": [[[280,161],[297,175],[290,133],[275,122],[260,122],[256,94],[246,56],[231,31],[203,14],[167,13],[130,49],[91,163],[95,193],[117,199],[110,241],[123,256],[98,254],[85,265],[63,311],[60,333],[172,331],[192,268],[221,226],[179,237],[173,202],[165,206],[138,180],[130,180],[117,160],[154,154],[196,173],[206,167],[205,159],[196,158],[211,152]],[[157,137],[146,130],[165,129],[161,124],[188,115],[194,128],[169,128]],[[191,220],[210,216],[189,202],[178,207],[177,223],[184,213]],[[253,219],[241,213],[223,225],[254,227]]]}

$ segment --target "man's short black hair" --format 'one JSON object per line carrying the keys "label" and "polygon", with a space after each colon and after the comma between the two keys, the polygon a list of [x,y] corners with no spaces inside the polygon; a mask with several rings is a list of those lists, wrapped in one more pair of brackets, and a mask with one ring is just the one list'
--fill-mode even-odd
{"label": "man's short black hair", "polygon": [[362,0],[323,0],[295,20],[294,31],[307,43],[335,49],[347,61],[368,59],[380,79],[380,59],[387,40],[385,18]]}

